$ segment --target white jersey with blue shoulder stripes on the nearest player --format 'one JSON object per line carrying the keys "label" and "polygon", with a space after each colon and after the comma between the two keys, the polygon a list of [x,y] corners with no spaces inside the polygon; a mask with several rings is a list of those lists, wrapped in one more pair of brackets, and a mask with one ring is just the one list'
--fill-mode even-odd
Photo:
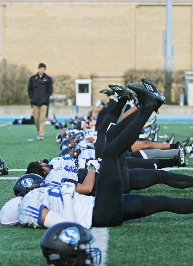
{"label": "white jersey with blue shoulder stripes on the nearest player", "polygon": [[[94,202],[95,197],[74,193],[75,222],[87,229],[92,225]],[[60,187],[38,188],[26,194],[18,205],[19,222],[34,228],[41,227],[42,209],[44,207],[48,210],[62,213],[63,198]]]}

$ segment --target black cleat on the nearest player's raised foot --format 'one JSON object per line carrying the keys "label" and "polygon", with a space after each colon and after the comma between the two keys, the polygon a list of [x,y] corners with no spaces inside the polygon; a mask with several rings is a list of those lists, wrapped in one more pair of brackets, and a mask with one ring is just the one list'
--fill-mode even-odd
{"label": "black cleat on the nearest player's raised foot", "polygon": [[155,93],[150,90],[147,90],[143,85],[136,84],[127,84],[127,87],[130,90],[133,90],[137,94],[138,100],[145,106],[155,106],[156,112],[158,112],[158,108],[165,101],[165,97],[160,93]]}

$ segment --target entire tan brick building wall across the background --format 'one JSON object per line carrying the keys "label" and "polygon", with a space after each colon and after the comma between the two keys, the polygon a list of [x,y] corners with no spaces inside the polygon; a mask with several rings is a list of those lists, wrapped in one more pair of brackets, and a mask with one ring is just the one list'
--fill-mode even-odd
{"label": "entire tan brick building wall across the background", "polygon": [[[165,12],[164,5],[4,5],[3,54],[34,73],[44,62],[47,74],[74,80],[162,69]],[[192,70],[192,6],[173,6],[172,12],[173,69]],[[92,98],[103,98],[98,91],[109,83],[124,85],[122,79],[95,79]]]}

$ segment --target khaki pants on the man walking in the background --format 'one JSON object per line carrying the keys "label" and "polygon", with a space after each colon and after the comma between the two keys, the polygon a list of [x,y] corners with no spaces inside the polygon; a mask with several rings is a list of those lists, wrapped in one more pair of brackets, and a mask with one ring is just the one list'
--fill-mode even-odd
{"label": "khaki pants on the man walking in the background", "polygon": [[32,105],[34,111],[34,121],[37,129],[38,135],[44,136],[45,133],[45,116],[47,105],[43,104],[41,106]]}

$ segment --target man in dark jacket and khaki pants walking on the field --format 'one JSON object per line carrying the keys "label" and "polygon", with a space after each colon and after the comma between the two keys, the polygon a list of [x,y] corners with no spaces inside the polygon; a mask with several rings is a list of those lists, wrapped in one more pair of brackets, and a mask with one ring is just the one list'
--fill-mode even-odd
{"label": "man in dark jacket and khaki pants walking on the field", "polygon": [[46,65],[40,63],[36,75],[30,77],[28,94],[34,112],[34,121],[37,129],[37,140],[44,140],[45,116],[49,98],[52,94],[52,78],[47,76]]}

